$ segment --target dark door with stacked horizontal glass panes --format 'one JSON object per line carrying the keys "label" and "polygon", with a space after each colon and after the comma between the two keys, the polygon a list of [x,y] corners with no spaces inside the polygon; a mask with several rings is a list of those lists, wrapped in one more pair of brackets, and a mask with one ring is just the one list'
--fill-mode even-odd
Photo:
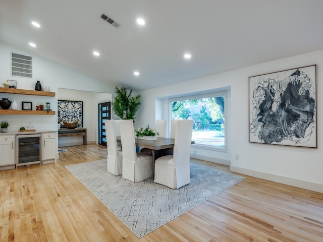
{"label": "dark door with stacked horizontal glass panes", "polygon": [[98,144],[106,146],[105,119],[111,119],[111,102],[103,102],[98,104],[99,124],[98,124]]}

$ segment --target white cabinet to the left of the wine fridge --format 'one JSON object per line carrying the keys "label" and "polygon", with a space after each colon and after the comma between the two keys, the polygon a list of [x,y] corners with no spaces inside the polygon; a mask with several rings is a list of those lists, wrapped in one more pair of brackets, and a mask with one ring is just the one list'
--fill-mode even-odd
{"label": "white cabinet to the left of the wine fridge", "polygon": [[15,135],[0,136],[0,170],[15,168]]}

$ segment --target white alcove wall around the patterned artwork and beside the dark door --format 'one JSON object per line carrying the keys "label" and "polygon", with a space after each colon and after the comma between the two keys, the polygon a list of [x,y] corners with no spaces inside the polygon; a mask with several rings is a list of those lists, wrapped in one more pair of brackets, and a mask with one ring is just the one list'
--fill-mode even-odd
{"label": "white alcove wall around the patterned artwork and beside the dark door", "polygon": [[[98,143],[98,104],[111,101],[111,93],[98,93],[59,88],[58,100],[83,102],[83,128],[87,129],[87,144]],[[59,147],[82,145],[83,137],[59,138]]]}

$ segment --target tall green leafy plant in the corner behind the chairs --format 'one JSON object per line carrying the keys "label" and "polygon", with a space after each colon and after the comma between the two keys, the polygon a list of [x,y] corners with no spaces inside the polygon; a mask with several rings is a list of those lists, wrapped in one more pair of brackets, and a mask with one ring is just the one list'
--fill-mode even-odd
{"label": "tall green leafy plant in the corner behind the chairs", "polygon": [[115,86],[116,97],[112,102],[112,110],[122,119],[133,119],[141,105],[141,95],[132,96],[132,89],[127,92],[125,87]]}

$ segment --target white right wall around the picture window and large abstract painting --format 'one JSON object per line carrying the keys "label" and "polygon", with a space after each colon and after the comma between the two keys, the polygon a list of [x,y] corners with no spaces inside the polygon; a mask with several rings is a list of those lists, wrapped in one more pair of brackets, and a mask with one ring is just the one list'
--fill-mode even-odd
{"label": "white right wall around the picture window and large abstract painting", "polygon": [[[248,78],[314,64],[317,65],[318,148],[249,143]],[[321,146],[323,130],[319,128],[320,120],[323,117],[321,115],[323,113],[323,100],[319,95],[323,93],[323,86],[320,85],[323,76],[321,66],[323,66],[323,50],[141,91],[138,93],[142,95],[143,104],[136,127],[154,124],[155,113],[160,111],[155,110],[155,108],[160,108],[159,101],[155,104],[158,98],[230,86],[229,114],[231,123],[228,125],[230,139],[228,153],[197,149],[196,153],[208,156],[211,159],[229,160],[231,161],[230,169],[235,172],[323,192],[323,175],[321,174],[323,171],[323,147]],[[164,102],[164,105],[164,110],[167,110],[168,102]],[[164,113],[164,118],[167,118],[167,115]],[[160,118],[159,114],[158,118]],[[239,155],[238,160],[236,160],[236,155]]]}

